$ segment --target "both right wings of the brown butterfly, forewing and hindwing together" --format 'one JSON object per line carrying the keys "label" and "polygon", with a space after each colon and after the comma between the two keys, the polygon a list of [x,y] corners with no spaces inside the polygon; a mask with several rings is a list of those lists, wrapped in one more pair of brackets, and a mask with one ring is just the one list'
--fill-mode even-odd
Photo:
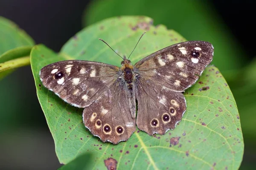
{"label": "both right wings of the brown butterfly, forewing and hindwing together", "polygon": [[194,84],[212,61],[212,44],[188,41],[161,49],[135,64],[137,126],[149,135],[174,129],[186,111],[181,92]]}

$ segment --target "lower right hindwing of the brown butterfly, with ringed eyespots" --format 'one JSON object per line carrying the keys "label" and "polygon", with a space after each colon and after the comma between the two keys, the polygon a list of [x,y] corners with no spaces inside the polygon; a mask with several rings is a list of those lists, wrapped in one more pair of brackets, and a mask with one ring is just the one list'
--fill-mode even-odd
{"label": "lower right hindwing of the brown butterfly, with ringed eyespots", "polygon": [[137,89],[138,128],[149,135],[163,135],[167,130],[174,129],[186,111],[183,94],[143,78],[137,83]]}

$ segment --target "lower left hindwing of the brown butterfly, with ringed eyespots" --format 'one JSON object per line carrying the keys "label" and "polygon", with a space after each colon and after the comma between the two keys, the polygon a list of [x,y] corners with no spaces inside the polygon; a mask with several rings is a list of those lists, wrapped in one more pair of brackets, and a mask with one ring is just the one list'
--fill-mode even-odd
{"label": "lower left hindwing of the brown butterfly, with ringed eyespots", "polygon": [[125,86],[116,81],[98,100],[84,108],[85,126],[103,142],[118,144],[128,140],[136,130],[126,93]]}

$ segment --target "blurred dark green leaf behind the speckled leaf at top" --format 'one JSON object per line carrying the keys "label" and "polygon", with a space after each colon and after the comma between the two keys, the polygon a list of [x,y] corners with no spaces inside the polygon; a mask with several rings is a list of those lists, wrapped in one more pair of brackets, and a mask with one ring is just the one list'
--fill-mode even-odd
{"label": "blurred dark green leaf behind the speckled leaf at top", "polygon": [[[186,37],[187,40],[204,40],[216,49],[212,63],[223,71],[244,65],[241,45],[227,29],[210,1],[189,0],[93,0],[84,10],[83,25],[88,26],[108,17],[146,15],[155,24],[164,24]],[[225,56],[225,58],[223,58]]]}

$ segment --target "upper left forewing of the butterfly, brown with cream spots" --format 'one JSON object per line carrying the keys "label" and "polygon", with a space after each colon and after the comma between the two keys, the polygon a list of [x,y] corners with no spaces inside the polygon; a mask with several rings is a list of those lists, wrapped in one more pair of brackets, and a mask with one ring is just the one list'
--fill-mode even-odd
{"label": "upper left forewing of the butterfly, brown with cream spots", "polygon": [[76,107],[87,107],[116,81],[119,67],[91,61],[60,61],[41,69],[44,86]]}

